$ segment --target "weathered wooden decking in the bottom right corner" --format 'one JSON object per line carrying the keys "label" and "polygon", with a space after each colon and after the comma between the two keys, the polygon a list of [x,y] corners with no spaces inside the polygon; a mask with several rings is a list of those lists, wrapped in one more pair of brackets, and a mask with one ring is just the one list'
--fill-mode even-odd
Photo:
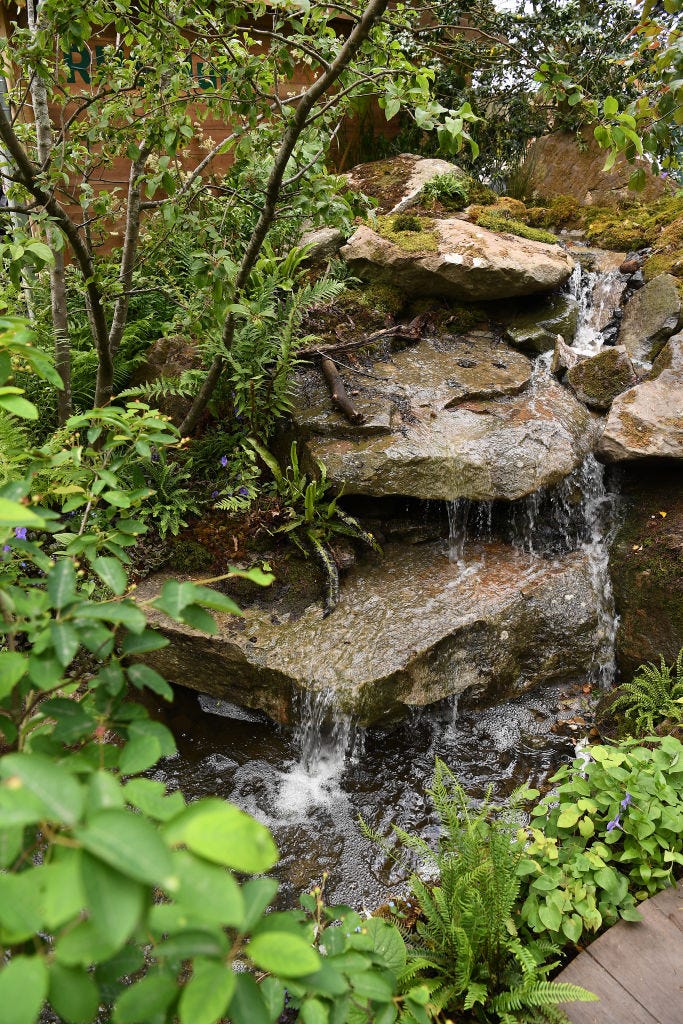
{"label": "weathered wooden decking in the bottom right corner", "polygon": [[565,1004],[572,1024],[683,1024],[683,884],[645,900],[643,921],[621,921],[558,977],[599,1002]]}

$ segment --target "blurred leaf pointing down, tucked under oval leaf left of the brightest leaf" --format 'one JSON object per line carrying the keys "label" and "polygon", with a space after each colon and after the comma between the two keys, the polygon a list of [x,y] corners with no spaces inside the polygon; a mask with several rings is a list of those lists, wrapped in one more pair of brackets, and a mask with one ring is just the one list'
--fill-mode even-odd
{"label": "blurred leaf pointing down, tucked under oval leaf left of the brightest leaf", "polygon": [[81,871],[92,926],[112,941],[115,949],[120,949],[142,915],[145,891],[139,882],[89,853],[81,858]]}

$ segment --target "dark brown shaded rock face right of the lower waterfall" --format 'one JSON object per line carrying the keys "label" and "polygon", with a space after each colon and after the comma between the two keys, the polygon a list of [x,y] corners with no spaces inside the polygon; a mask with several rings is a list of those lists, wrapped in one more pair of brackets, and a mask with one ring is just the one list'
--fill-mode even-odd
{"label": "dark brown shaded rock face right of the lower waterfall", "polygon": [[620,528],[609,553],[618,614],[616,664],[671,665],[683,645],[683,487],[680,463],[626,464]]}

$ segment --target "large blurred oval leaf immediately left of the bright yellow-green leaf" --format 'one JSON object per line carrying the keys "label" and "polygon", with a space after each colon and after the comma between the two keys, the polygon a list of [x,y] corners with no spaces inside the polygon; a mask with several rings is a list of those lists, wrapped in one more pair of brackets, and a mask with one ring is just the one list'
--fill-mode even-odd
{"label": "large blurred oval leaf immediately left of the bright yellow-green leaf", "polygon": [[161,887],[172,880],[171,855],[154,825],[139,814],[116,808],[98,811],[75,835],[89,853],[129,879]]}

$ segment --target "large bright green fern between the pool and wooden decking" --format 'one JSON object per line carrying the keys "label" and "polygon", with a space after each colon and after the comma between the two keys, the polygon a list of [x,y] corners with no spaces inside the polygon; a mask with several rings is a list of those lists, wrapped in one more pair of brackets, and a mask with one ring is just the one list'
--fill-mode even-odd
{"label": "large bright green fern between the pool and wooden decking", "polygon": [[[479,1021],[557,1021],[558,1002],[594,999],[577,986],[547,981],[556,948],[518,936],[513,912],[523,848],[515,836],[515,800],[507,815],[492,805],[489,794],[475,808],[438,759],[427,792],[440,827],[436,849],[393,826],[399,850],[417,855],[421,868],[410,879],[420,916],[417,937],[408,936],[402,982],[424,982],[431,1014],[460,1017],[471,1011]],[[436,882],[423,881],[422,873]]]}

